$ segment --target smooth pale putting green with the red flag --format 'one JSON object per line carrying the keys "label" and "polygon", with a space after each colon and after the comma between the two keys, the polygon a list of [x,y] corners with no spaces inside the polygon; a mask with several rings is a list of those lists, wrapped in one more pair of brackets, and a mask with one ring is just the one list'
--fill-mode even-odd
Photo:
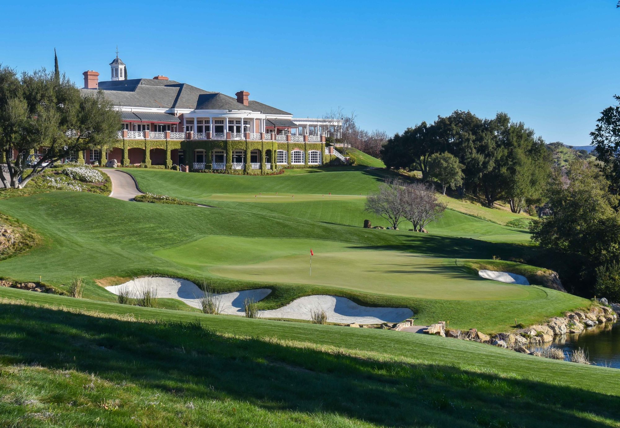
{"label": "smooth pale putting green with the red flag", "polygon": [[[310,275],[310,248],[312,275]],[[454,259],[342,242],[297,238],[208,236],[155,252],[180,266],[222,277],[293,282],[439,300],[540,299],[536,287],[481,279]]]}

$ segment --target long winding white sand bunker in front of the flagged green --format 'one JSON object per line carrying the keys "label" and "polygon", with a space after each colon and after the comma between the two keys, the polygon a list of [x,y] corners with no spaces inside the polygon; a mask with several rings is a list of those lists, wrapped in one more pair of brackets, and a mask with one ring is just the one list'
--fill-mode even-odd
{"label": "long winding white sand bunker in front of the flagged green", "polygon": [[[110,286],[105,287],[105,289],[113,294],[119,294],[125,290],[131,293],[139,293],[144,289],[155,289],[157,290],[158,298],[181,300],[195,308],[200,308],[200,299],[204,295],[202,290],[192,281],[168,277],[136,278],[120,286]],[[244,315],[243,301],[245,299],[250,298],[258,302],[265,299],[270,292],[270,289],[254,289],[218,294],[221,313]],[[313,310],[324,310],[327,313],[327,320],[332,323],[396,323],[414,315],[408,308],[365,307],[352,302],[352,300],[346,297],[311,295],[300,297],[278,309],[262,310],[260,311],[260,316],[263,318],[311,320],[311,312]]]}

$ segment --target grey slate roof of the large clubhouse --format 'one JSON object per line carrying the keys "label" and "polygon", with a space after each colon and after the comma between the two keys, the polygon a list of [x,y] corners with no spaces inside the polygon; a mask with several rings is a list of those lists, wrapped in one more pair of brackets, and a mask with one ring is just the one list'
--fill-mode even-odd
{"label": "grey slate roof of the large clubhouse", "polygon": [[[120,59],[119,59],[120,61]],[[99,89],[114,105],[124,107],[191,108],[192,110],[262,111],[267,115],[290,115],[270,105],[249,100],[249,105],[220,92],[210,92],[186,83],[159,79],[128,79],[99,82]],[[91,89],[82,89],[92,93]]]}

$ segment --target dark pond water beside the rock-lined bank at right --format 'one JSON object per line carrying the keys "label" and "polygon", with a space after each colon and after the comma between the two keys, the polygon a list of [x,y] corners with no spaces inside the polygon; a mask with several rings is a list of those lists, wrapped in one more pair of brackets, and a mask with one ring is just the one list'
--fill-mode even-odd
{"label": "dark pond water beside the rock-lined bank at right", "polygon": [[562,349],[567,356],[581,347],[588,352],[591,364],[620,369],[620,322],[590,327],[579,334],[556,336],[550,346]]}

